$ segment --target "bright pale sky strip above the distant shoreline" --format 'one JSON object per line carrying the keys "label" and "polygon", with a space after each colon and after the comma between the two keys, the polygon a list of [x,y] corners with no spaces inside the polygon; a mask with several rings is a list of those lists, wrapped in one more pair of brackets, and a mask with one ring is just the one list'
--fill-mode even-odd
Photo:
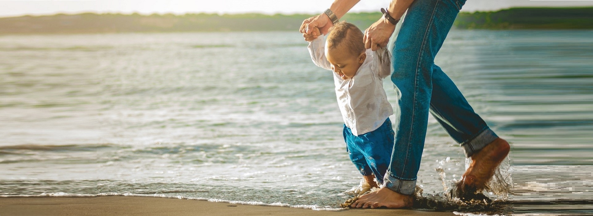
{"label": "bright pale sky strip above the distant shoreline", "polygon": [[[351,11],[379,11],[390,0],[361,0]],[[0,17],[79,12],[131,14],[187,12],[264,14],[320,13],[333,0],[0,0]],[[593,6],[592,1],[468,0],[463,11],[497,11],[509,7]]]}

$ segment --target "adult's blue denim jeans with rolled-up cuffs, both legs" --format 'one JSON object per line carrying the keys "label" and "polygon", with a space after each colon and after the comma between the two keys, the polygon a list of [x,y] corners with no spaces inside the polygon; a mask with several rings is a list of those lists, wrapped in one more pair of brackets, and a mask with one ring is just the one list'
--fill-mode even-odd
{"label": "adult's blue denim jeans with rolled-up cuffs, both legs", "polygon": [[[416,0],[401,24],[391,80],[400,94],[400,121],[384,186],[413,194],[428,113],[461,144],[467,157],[498,136],[477,115],[434,59],[466,0]],[[397,112],[396,112],[397,113]]]}

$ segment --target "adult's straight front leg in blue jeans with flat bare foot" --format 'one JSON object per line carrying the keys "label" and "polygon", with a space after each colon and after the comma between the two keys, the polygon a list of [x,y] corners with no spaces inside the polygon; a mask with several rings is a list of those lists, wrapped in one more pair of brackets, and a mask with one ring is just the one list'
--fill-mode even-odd
{"label": "adult's straight front leg in blue jeans with flat bare foot", "polygon": [[457,17],[464,0],[415,1],[406,13],[393,51],[391,80],[396,91],[400,121],[384,188],[361,196],[356,208],[411,207],[424,148],[432,94],[434,58]]}

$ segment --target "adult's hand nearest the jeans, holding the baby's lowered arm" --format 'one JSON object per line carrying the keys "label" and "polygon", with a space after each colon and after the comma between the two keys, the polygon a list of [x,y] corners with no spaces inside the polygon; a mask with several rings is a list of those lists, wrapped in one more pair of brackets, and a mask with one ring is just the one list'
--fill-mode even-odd
{"label": "adult's hand nearest the jeans, holding the baby's lowered arm", "polygon": [[386,47],[391,34],[395,30],[396,25],[391,24],[385,17],[381,17],[381,19],[365,30],[365,37],[363,38],[365,48],[375,51],[379,47]]}

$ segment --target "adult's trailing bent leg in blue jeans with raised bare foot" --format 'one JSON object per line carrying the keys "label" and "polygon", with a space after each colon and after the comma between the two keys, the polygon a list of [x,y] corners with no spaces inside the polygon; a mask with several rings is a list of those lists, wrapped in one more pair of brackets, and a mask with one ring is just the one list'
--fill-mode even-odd
{"label": "adult's trailing bent leg in blue jeans with raised bare foot", "polygon": [[486,185],[496,166],[509,153],[510,146],[474,112],[441,67],[433,65],[432,69],[430,111],[447,133],[461,144],[466,157],[472,158],[455,191],[455,195],[464,196]]}

